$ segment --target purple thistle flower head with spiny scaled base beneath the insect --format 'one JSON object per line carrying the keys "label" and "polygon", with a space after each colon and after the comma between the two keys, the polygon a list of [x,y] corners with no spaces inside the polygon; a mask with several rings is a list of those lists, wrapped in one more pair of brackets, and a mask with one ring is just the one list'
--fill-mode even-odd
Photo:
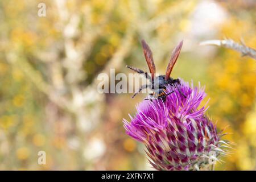
{"label": "purple thistle flower head with spiny scaled base beneath the insect", "polygon": [[[145,144],[152,166],[158,170],[209,169],[229,147],[220,140],[216,126],[205,115],[208,107],[198,108],[205,97],[204,88],[167,86],[166,101],[142,101],[131,122],[123,119],[126,133]],[[211,163],[212,161],[212,163]]]}

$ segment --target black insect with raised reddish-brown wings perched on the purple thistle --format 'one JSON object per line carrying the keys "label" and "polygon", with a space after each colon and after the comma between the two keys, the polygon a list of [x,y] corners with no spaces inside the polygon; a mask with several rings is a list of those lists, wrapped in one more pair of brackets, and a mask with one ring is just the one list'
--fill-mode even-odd
{"label": "black insect with raised reddish-brown wings perched on the purple thistle", "polygon": [[176,84],[180,84],[179,79],[171,78],[170,75],[171,75],[172,69],[174,68],[174,65],[177,61],[177,58],[179,57],[183,41],[181,41],[179,44],[177,44],[174,51],[172,51],[172,56],[169,61],[168,67],[166,69],[166,75],[160,75],[158,77],[155,77],[155,64],[154,64],[152,51],[144,40],[142,40],[141,43],[142,43],[142,47],[143,47],[144,56],[147,61],[147,65],[148,65],[148,68],[151,73],[151,77],[148,75],[147,72],[144,72],[141,69],[134,68],[131,66],[126,66],[126,67],[130,68],[131,70],[133,70],[139,74],[143,74],[147,79],[150,80],[150,85],[142,85],[139,88],[139,90],[133,95],[132,98],[134,98],[138,93],[140,93],[141,90],[150,88],[151,90],[153,90],[153,93],[151,93],[150,98],[147,98],[146,100],[156,100],[156,99],[161,98],[163,101],[165,101],[166,97],[169,94],[171,94],[172,92],[174,92],[174,91],[172,91],[171,93],[167,93],[166,92],[167,85],[171,85],[171,86],[175,87]]}

